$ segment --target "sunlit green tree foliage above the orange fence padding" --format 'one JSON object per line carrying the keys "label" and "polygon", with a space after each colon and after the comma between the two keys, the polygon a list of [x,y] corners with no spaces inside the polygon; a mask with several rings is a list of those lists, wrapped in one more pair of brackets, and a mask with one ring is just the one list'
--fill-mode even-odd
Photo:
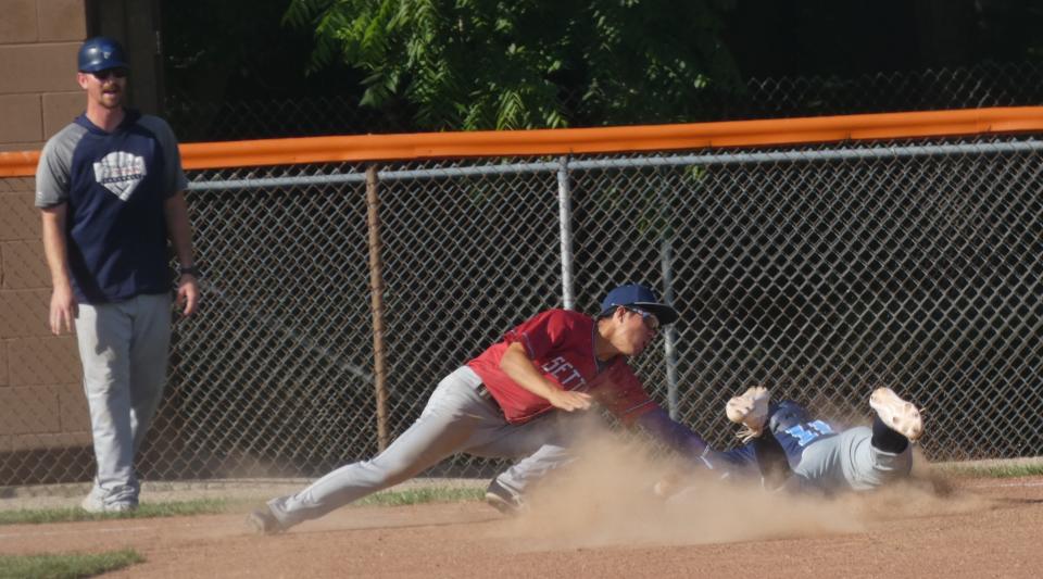
{"label": "sunlit green tree foliage above the orange fence padding", "polygon": [[365,104],[410,102],[428,129],[692,119],[737,81],[720,41],[733,0],[292,0],[311,70],[365,72]]}

